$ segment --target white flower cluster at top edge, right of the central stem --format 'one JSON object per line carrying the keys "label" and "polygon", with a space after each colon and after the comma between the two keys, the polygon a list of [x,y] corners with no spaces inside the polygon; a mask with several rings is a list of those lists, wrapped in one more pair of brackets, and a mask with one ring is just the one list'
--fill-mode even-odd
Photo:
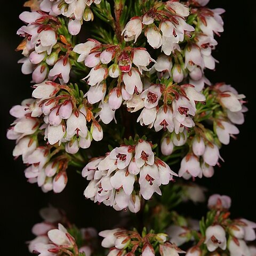
{"label": "white flower cluster at top edge, right of the central stem", "polygon": [[195,30],[185,21],[188,15],[188,6],[178,1],[156,2],[142,17],[131,18],[122,35],[127,42],[136,42],[144,29],[149,45],[154,49],[162,46],[162,51],[170,55],[174,49],[180,49],[178,43],[183,42],[185,35]]}

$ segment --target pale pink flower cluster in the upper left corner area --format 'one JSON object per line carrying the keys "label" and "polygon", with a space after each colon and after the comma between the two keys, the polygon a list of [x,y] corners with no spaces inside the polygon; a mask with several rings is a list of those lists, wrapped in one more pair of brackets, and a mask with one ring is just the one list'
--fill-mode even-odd
{"label": "pale pink flower cluster in the upper left corner area", "polygon": [[49,79],[61,78],[69,81],[71,69],[70,53],[73,50],[72,38],[65,30],[65,21],[43,11],[22,12],[20,19],[27,25],[17,34],[25,39],[17,47],[25,56],[23,74],[32,74],[33,82],[41,83]]}

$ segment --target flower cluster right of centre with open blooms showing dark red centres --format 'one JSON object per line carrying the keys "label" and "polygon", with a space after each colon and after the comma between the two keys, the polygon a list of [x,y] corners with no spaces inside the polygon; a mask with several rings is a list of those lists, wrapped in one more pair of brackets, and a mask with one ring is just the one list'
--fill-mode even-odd
{"label": "flower cluster right of centre with open blooms showing dark red centres", "polygon": [[168,82],[151,85],[141,93],[143,109],[137,122],[149,128],[154,125],[156,132],[163,129],[178,134],[183,132],[184,127],[195,125],[191,118],[196,114],[195,102],[205,101],[205,96],[197,92],[193,85],[179,86]]}

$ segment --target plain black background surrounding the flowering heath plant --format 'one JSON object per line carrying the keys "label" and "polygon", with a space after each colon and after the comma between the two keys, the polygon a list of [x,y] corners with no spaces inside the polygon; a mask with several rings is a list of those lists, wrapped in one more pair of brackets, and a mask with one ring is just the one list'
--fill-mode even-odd
{"label": "plain black background surrounding the flowering heath plant", "polygon": [[[31,227],[41,219],[38,210],[51,203],[65,210],[71,220],[80,227],[95,226],[98,230],[112,228],[117,224],[115,210],[86,201],[83,190],[86,181],[78,174],[69,173],[67,188],[61,194],[43,194],[36,185],[27,183],[23,175],[21,159],[13,161],[14,141],[5,138],[6,129],[13,118],[9,109],[21,100],[29,98],[30,75],[21,74],[17,61],[21,54],[14,51],[20,42],[16,31],[22,22],[18,15],[22,12],[23,1],[3,1],[1,3],[1,235],[4,236],[1,252],[8,255],[28,255],[25,241],[33,238]],[[254,4],[254,6],[253,6]],[[213,53],[220,61],[216,71],[208,72],[212,82],[225,81],[233,85],[239,93],[244,93],[249,103],[246,122],[239,126],[241,134],[235,141],[231,139],[220,153],[225,159],[221,169],[215,168],[211,179],[200,181],[209,189],[209,194],[227,194],[232,198],[233,217],[245,217],[256,221],[255,210],[255,149],[253,117],[255,117],[255,1],[212,0],[211,7],[226,9],[225,31],[217,38],[219,45]],[[206,207],[189,204],[194,215],[200,216]],[[189,209],[186,209],[189,211]],[[198,214],[197,214],[198,213]]]}

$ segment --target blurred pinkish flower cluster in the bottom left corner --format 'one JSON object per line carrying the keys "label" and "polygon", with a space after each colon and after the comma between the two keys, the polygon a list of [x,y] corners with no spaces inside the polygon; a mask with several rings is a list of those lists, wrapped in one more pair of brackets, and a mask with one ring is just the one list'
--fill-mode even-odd
{"label": "blurred pinkish flower cluster in the bottom left corner", "polygon": [[[62,255],[62,253],[70,256],[91,255],[92,241],[98,236],[94,228],[77,229],[70,225],[62,211],[54,207],[41,209],[39,213],[44,221],[36,223],[32,228],[36,238],[28,242],[29,252],[39,256]],[[61,223],[68,225],[69,228],[66,229]]]}

